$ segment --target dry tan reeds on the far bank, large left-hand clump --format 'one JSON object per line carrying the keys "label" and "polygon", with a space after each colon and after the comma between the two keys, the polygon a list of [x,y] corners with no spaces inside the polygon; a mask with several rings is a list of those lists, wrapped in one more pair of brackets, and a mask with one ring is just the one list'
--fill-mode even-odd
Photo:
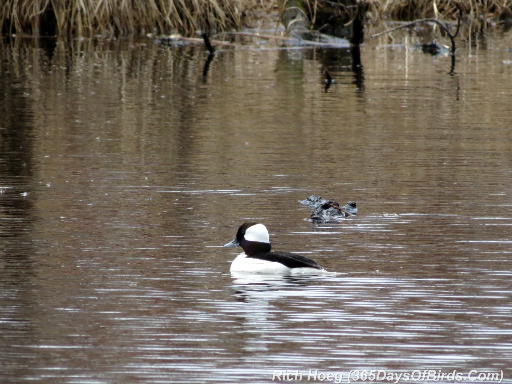
{"label": "dry tan reeds on the far bank, large left-hand clump", "polygon": [[240,28],[257,0],[4,0],[2,33],[117,36]]}

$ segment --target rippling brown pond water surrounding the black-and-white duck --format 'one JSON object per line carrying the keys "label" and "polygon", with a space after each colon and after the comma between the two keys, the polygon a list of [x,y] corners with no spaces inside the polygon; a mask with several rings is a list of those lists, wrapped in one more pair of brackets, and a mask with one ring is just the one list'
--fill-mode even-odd
{"label": "rippling brown pond water surrounding the black-and-white duck", "polygon": [[[0,381],[512,382],[510,39],[455,75],[382,42],[204,77],[202,46],[2,40]],[[312,224],[312,194],[359,213]],[[249,220],[340,273],[232,276]]]}

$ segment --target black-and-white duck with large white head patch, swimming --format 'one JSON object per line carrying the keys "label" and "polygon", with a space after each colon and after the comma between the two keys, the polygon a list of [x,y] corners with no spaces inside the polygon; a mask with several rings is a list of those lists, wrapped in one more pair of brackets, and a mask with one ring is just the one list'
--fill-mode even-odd
{"label": "black-and-white duck with large white head patch, swimming", "polygon": [[240,245],[244,252],[234,259],[231,272],[266,273],[280,275],[319,274],[327,272],[314,261],[288,252],[271,252],[267,227],[259,223],[245,223],[237,238],[224,247]]}

